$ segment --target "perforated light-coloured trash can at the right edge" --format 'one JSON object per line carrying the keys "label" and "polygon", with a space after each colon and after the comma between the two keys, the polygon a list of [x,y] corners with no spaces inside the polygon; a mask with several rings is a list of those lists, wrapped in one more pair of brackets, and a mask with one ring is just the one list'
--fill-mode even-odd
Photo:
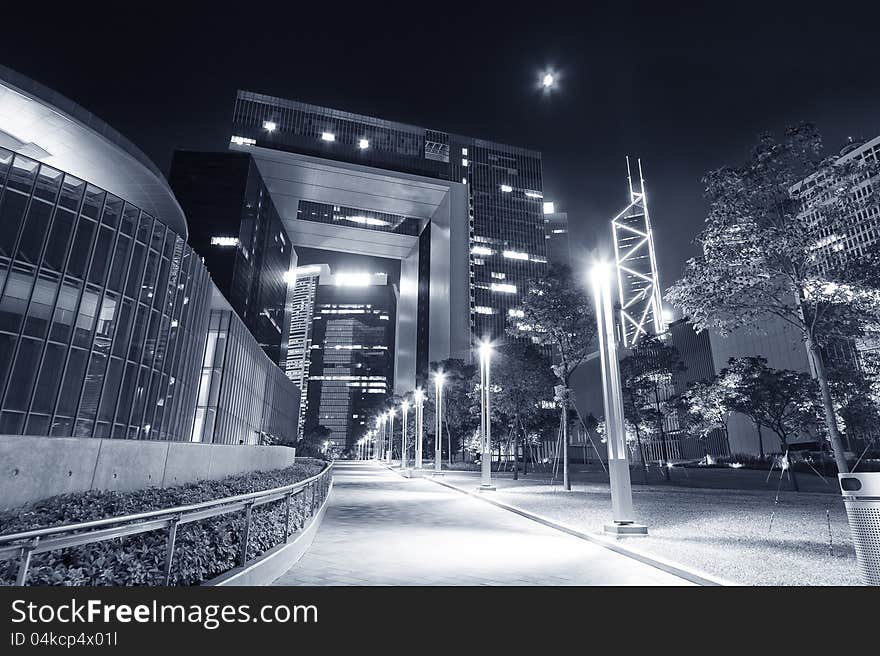
{"label": "perforated light-coloured trash can at the right edge", "polygon": [[837,477],[862,581],[880,585],[880,472]]}

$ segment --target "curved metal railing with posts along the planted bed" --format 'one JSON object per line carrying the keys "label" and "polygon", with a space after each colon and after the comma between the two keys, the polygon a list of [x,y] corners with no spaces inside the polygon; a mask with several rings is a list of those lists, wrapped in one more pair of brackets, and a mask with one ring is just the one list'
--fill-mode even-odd
{"label": "curved metal railing with posts along the planted bed", "polygon": [[[54,551],[55,549],[78,547],[84,544],[102,542],[128,535],[137,535],[148,531],[168,529],[165,548],[164,584],[170,585],[177,528],[182,524],[198,522],[203,519],[228,515],[229,513],[243,510],[245,512],[245,522],[241,533],[241,546],[238,555],[238,565],[243,566],[247,562],[252,510],[258,506],[284,499],[283,542],[286,543],[291,535],[291,501],[295,497],[303,495],[303,500],[307,503],[308,507],[308,517],[314,516],[326,498],[332,470],[333,463],[330,463],[315,476],[290,485],[263,490],[262,492],[250,492],[214,501],[204,501],[202,503],[163,510],[152,510],[135,515],[107,517],[78,524],[62,524],[60,526],[38,528],[21,533],[0,535],[0,561],[12,558],[20,559],[21,562],[19,563],[15,584],[22,586],[27,583],[28,568],[30,567],[31,556],[34,554]],[[305,518],[306,514],[303,513],[299,528],[305,526]],[[281,543],[279,542],[279,544]]]}

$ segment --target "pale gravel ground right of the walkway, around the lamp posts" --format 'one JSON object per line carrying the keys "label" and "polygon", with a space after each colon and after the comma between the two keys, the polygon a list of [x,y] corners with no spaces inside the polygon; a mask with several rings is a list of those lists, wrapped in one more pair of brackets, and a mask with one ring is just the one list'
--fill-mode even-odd
{"label": "pale gravel ground right of the walkway, around the lamp posts", "polygon": [[[473,488],[479,475],[445,472],[452,485]],[[499,501],[584,532],[601,534],[610,518],[607,484],[560,484],[493,474]],[[649,535],[638,549],[747,585],[859,585],[846,511],[838,495],[782,490],[633,487],[635,519]],[[828,515],[826,516],[826,511]],[[772,515],[772,527],[771,527]],[[830,539],[829,539],[830,519]]]}

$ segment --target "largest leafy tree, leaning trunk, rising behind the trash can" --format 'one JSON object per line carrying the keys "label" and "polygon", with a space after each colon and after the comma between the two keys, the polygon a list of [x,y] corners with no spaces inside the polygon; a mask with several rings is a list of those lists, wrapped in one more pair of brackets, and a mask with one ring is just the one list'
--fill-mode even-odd
{"label": "largest leafy tree, leaning trunk, rising behind the trash can", "polygon": [[877,163],[823,160],[821,148],[815,127],[802,124],[781,142],[761,137],[742,167],[709,172],[709,214],[696,239],[702,255],[688,260],[667,299],[697,330],[759,331],[772,318],[795,326],[816,374],[838,470],[846,472],[822,348],[863,334],[880,312],[869,281],[819,271],[815,250],[823,235],[845,233],[857,211],[877,203],[876,189],[865,185]]}

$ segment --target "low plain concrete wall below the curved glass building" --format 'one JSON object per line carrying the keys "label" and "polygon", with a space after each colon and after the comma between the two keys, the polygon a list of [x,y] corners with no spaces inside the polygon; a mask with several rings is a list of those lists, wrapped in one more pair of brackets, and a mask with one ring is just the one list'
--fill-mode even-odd
{"label": "low plain concrete wall below the curved glass building", "polygon": [[0,506],[281,469],[292,465],[295,455],[284,446],[0,435]]}

